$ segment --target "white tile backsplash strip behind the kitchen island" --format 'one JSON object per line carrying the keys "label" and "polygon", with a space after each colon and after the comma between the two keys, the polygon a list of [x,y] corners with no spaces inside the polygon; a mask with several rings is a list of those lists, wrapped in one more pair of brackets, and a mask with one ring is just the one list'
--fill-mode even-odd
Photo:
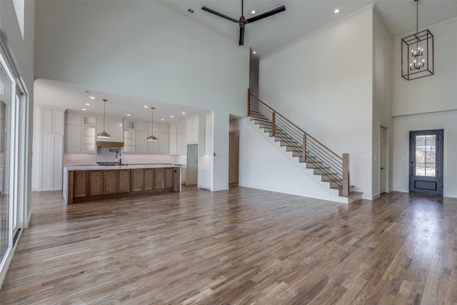
{"label": "white tile backsplash strip behind the kitchen island", "polygon": [[[113,151],[110,151],[113,150]],[[186,155],[175,154],[119,154],[121,149],[99,147],[97,154],[64,154],[64,164],[96,164],[96,162],[119,162],[122,164],[186,164]],[[117,155],[117,156],[116,156]]]}

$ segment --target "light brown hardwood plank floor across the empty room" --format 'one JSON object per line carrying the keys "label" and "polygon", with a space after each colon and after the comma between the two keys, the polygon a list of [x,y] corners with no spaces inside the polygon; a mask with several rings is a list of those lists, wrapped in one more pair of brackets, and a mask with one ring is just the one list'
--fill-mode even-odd
{"label": "light brown hardwood plank floor across the empty room", "polygon": [[457,304],[457,199],[33,195],[0,304]]}

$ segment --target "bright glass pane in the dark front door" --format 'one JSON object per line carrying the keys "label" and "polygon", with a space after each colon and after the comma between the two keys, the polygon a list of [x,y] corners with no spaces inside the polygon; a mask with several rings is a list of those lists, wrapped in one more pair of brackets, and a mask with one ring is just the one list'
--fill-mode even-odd
{"label": "bright glass pane in the dark front door", "polygon": [[416,176],[436,177],[436,135],[416,135]]}

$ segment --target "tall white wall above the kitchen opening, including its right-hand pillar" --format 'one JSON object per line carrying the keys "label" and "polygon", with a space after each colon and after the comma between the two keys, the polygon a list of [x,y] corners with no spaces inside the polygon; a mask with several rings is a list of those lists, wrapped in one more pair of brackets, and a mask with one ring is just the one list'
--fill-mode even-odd
{"label": "tall white wall above the kitchen opening, including its right-hand pillar", "polygon": [[[249,49],[167,1],[38,1],[36,76],[214,110],[214,188],[229,114],[246,115]],[[182,12],[181,12],[182,11]]]}

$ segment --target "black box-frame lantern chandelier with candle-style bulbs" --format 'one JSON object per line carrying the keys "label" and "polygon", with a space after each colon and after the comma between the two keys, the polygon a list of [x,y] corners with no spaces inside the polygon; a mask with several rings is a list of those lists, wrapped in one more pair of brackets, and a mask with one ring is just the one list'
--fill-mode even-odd
{"label": "black box-frame lantern chandelier with candle-style bulbs", "polygon": [[416,33],[401,39],[401,76],[408,81],[433,75],[433,35],[428,29],[418,31],[418,0],[414,1]]}

